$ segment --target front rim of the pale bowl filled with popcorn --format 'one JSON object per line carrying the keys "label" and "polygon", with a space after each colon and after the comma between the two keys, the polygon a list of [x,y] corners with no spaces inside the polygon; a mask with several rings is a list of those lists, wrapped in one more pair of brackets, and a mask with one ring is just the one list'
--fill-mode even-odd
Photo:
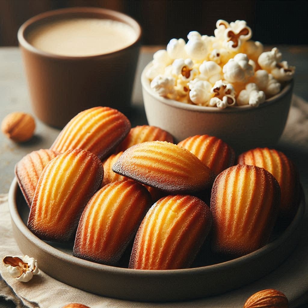
{"label": "front rim of the pale bowl filled with popcorn", "polygon": [[197,111],[197,112],[212,112],[212,113],[232,113],[232,112],[241,112],[241,111],[248,111],[248,110],[256,110],[260,108],[266,108],[276,102],[279,102],[284,96],[288,95],[290,91],[293,89],[294,79],[292,79],[286,86],[276,95],[266,99],[264,103],[260,104],[258,107],[253,107],[251,105],[244,105],[244,106],[231,106],[225,109],[220,109],[217,107],[209,107],[209,106],[198,106],[198,105],[191,105],[186,103],[178,102],[174,99],[168,99],[162,96],[159,96],[155,93],[152,88],[150,87],[150,80],[146,77],[146,72],[152,66],[152,61],[149,62],[146,67],[144,67],[141,73],[141,84],[142,88],[147,91],[149,95],[151,95],[154,99],[164,103],[165,105],[169,105],[171,107],[175,107],[178,109],[190,110],[190,111]]}

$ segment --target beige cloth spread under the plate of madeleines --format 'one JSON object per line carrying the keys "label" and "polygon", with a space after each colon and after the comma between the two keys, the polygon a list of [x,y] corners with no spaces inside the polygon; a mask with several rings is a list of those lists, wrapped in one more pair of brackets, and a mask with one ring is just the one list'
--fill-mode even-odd
{"label": "beige cloth spread under the plate of madeleines", "polygon": [[[298,166],[306,200],[308,192],[308,103],[294,97],[286,130],[278,145]],[[13,171],[12,171],[13,172]],[[60,308],[71,302],[91,308],[240,308],[245,300],[258,290],[274,288],[289,299],[290,307],[308,302],[308,220],[301,226],[302,237],[294,253],[266,277],[241,289],[220,296],[176,303],[143,303],[106,298],[78,290],[59,282],[42,271],[28,283],[10,277],[4,265],[0,265],[0,296],[12,300],[19,307]],[[11,230],[7,195],[0,196],[0,256],[21,254]],[[43,260],[38,260],[43,262]],[[78,278],[76,278],[78,279]],[[155,290],[153,290],[155,292]]]}

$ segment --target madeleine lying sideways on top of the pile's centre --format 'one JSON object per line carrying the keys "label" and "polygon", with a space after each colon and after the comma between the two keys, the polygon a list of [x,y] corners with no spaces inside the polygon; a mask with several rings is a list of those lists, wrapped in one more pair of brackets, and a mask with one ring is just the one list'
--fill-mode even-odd
{"label": "madeleine lying sideways on top of the pile's centre", "polygon": [[188,150],[166,141],[128,148],[112,170],[167,193],[194,193],[210,188],[213,171]]}

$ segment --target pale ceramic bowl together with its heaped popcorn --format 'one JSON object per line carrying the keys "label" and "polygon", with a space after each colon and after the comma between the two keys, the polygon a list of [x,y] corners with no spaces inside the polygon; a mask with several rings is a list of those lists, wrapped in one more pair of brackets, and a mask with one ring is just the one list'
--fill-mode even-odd
{"label": "pale ceramic bowl together with its heaped popcorn", "polygon": [[214,36],[189,32],[157,51],[142,72],[150,125],[176,141],[209,134],[237,152],[273,146],[290,109],[295,67],[278,48],[250,40],[243,20],[218,20]]}

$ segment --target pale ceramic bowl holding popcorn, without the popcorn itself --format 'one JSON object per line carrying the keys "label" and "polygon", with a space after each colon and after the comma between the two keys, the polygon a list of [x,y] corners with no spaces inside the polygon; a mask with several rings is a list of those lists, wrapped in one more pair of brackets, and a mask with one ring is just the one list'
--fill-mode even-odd
{"label": "pale ceramic bowl holding popcorn, without the popcorn itself", "polygon": [[141,74],[142,93],[149,125],[171,133],[176,142],[189,136],[208,134],[227,142],[237,153],[256,147],[273,147],[286,125],[293,82],[259,107],[234,106],[225,109],[180,103],[156,94]]}

